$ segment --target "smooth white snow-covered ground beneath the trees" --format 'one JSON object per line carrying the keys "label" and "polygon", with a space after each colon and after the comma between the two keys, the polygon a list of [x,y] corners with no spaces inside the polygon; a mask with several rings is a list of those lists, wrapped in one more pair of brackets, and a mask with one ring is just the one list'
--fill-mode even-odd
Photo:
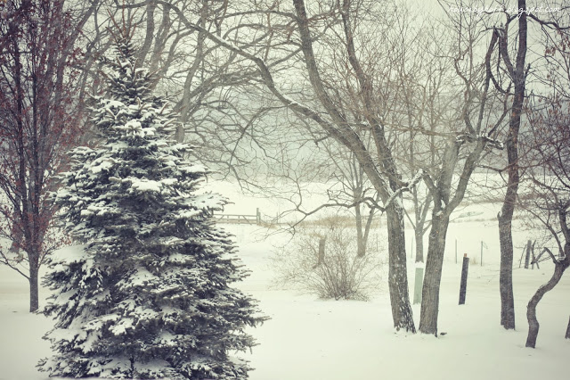
{"label": "smooth white snow-covered ground beneath the trees", "polygon": [[[247,197],[240,197],[240,202],[228,206],[226,211],[255,213],[256,207],[276,212],[271,202]],[[446,335],[439,338],[395,333],[386,281],[371,302],[322,301],[312,295],[271,287],[274,272],[269,259],[288,236],[267,236],[264,229],[256,226],[224,225],[236,236],[240,258],[252,272],[240,288],[253,294],[272,318],[252,330],[259,345],[252,352],[240,354],[256,368],[250,372],[250,379],[567,379],[570,340],[564,335],[570,317],[570,276],[566,274],[539,304],[541,329],[537,348],[525,348],[526,303],[537,287],[550,278],[553,265],[544,261],[540,269],[518,268],[520,247],[531,236],[517,231],[513,271],[517,331],[505,331],[499,324],[499,242],[493,207],[469,206],[460,212],[477,215],[459,219],[450,226],[438,323],[440,333]],[[379,229],[380,235],[372,238],[382,242],[384,225]],[[411,247],[411,230],[406,234]],[[467,252],[478,261],[480,242],[488,247],[483,266],[477,263],[469,267],[467,302],[462,306],[458,305],[460,262],[455,263],[456,239],[459,260]],[[408,264],[412,294],[413,260]],[[40,293],[40,307],[45,304],[45,296],[45,291]],[[35,365],[50,353],[41,336],[52,321],[27,310],[27,282],[12,270],[0,267],[2,380],[48,378],[38,373]],[[419,305],[413,305],[413,311],[418,326]]]}

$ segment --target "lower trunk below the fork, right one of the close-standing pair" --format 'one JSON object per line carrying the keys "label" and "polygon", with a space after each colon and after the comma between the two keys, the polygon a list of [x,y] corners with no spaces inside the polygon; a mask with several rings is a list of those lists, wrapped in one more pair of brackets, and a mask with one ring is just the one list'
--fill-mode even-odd
{"label": "lower trunk below the fork, right one of the close-standing pair", "polygon": [[449,225],[449,216],[432,215],[431,230],[429,232],[428,260],[426,260],[426,274],[421,293],[421,315],[419,318],[419,332],[437,336],[437,314],[439,310],[439,285],[444,267],[445,235]]}

